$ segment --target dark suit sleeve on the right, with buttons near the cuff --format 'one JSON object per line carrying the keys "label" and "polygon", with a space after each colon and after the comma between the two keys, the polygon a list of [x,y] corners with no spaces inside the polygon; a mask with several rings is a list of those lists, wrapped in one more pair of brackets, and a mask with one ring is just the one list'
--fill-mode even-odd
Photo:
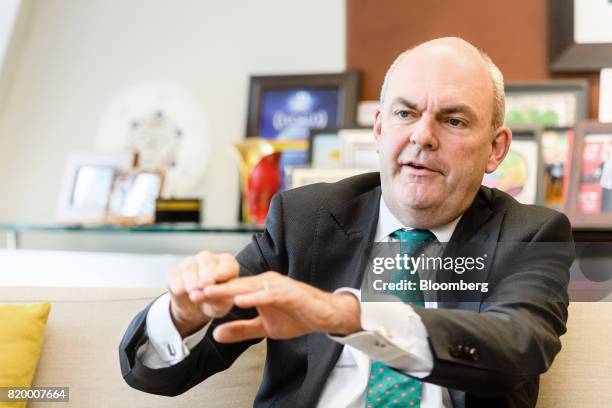
{"label": "dark suit sleeve on the right, with buttons near the cuff", "polygon": [[[534,245],[539,243],[549,244]],[[569,267],[574,259],[569,221],[554,213],[522,248],[520,253],[496,255],[498,266],[511,272],[490,274],[493,288],[479,313],[416,309],[434,354],[433,370],[424,381],[497,395],[550,367],[566,331]],[[523,256],[525,251],[531,256]],[[466,350],[472,349],[470,356]]]}

